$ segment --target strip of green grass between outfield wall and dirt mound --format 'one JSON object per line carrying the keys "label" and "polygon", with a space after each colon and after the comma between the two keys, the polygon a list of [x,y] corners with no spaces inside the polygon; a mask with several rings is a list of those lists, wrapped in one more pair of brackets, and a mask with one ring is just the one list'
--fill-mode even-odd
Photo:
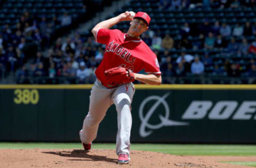
{"label": "strip of green grass between outfield wall and dirt mound", "polygon": [[[0,149],[82,149],[81,143],[0,142]],[[93,144],[94,149],[115,149],[115,144]],[[132,144],[132,150],[172,155],[256,156],[256,145]],[[224,162],[256,167],[256,162]]]}

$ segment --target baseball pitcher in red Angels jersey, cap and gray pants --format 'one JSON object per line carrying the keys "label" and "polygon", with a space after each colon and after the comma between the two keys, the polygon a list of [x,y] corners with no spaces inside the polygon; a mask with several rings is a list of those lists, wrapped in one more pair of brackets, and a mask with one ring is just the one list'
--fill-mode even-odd
{"label": "baseball pitcher in red Angels jersey, cap and gray pants", "polygon": [[[118,22],[130,21],[127,33],[110,30]],[[132,127],[131,103],[134,95],[133,81],[148,85],[161,85],[162,78],[157,57],[141,40],[147,31],[150,17],[145,12],[128,12],[98,23],[92,33],[98,43],[105,44],[103,60],[95,74],[97,80],[91,90],[89,112],[79,131],[85,150],[90,150],[97,137],[99,123],[111,104],[117,111],[118,132],[116,154],[118,163],[130,162],[130,135]],[[141,70],[147,74],[139,74]]]}

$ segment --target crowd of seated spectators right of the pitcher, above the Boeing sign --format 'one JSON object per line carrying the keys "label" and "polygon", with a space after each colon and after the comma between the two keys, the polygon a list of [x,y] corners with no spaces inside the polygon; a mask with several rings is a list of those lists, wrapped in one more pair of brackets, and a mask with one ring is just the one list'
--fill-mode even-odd
{"label": "crowd of seated spectators right of the pitcher, above the Boeing sign", "polygon": [[[185,23],[180,29],[180,34],[177,35],[180,36],[179,40],[174,40],[168,34],[162,38],[160,34],[157,34],[159,31],[154,33],[151,38],[149,36],[150,32],[146,32],[146,35],[142,36],[142,39],[146,39],[145,43],[158,56],[164,77],[191,75],[227,77],[241,77],[241,75],[244,75],[256,77],[253,73],[254,58],[256,57],[256,23],[252,25],[250,22],[246,22],[244,27],[236,24],[234,28],[231,28],[229,24],[220,23],[219,21],[211,25],[205,19],[203,24],[193,26]],[[191,32],[190,30],[199,31]],[[190,40],[190,37],[195,37],[197,40]],[[248,37],[253,37],[255,40],[249,44],[247,42]],[[178,58],[175,58],[170,53],[177,49],[182,52]],[[202,50],[203,54],[186,53],[187,49],[192,51]],[[213,60],[213,51],[227,55],[227,57]],[[243,57],[249,54],[251,54],[251,60],[245,64]]]}

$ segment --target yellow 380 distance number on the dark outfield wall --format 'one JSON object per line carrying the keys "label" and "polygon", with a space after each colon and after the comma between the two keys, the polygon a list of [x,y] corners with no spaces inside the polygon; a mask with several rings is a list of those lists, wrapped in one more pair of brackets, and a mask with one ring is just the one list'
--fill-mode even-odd
{"label": "yellow 380 distance number on the dark outfield wall", "polygon": [[13,102],[16,104],[37,104],[39,101],[39,93],[37,89],[15,89]]}

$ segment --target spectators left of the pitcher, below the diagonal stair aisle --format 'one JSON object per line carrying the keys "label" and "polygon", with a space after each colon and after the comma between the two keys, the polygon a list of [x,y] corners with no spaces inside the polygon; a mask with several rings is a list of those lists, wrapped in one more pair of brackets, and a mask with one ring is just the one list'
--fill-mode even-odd
{"label": "spectators left of the pitcher, below the diagonal stair aisle", "polygon": [[27,77],[37,77],[39,83],[54,83],[58,77],[64,77],[62,83],[92,83],[102,58],[103,48],[92,37],[85,41],[77,33],[66,40],[58,38],[44,53],[38,51],[30,63],[17,70],[16,76],[18,83],[29,83]]}

